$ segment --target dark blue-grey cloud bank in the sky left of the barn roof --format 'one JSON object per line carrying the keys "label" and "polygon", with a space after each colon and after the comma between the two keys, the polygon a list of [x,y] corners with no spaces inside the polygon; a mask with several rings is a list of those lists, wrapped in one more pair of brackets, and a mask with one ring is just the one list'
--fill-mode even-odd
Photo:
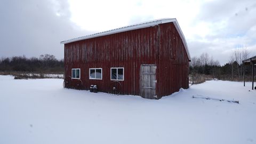
{"label": "dark blue-grey cloud bank in the sky left of the barn roof", "polygon": [[0,19],[0,57],[50,53],[61,59],[60,41],[89,34],[69,20],[67,1],[4,0]]}

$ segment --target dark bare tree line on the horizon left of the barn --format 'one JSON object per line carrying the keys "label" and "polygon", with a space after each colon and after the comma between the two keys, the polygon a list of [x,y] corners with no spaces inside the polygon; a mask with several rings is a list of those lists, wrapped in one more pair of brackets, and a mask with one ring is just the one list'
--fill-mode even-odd
{"label": "dark bare tree line on the horizon left of the barn", "polygon": [[51,54],[42,54],[39,56],[39,58],[27,58],[25,55],[11,58],[2,58],[0,59],[0,71],[63,73],[64,60],[58,60],[54,55]]}

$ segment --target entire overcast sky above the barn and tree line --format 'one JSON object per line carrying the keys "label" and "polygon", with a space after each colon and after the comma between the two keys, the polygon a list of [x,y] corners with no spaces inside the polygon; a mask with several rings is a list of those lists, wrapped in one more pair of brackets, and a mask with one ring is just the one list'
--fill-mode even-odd
{"label": "entire overcast sky above the barn and tree line", "polygon": [[49,53],[63,58],[60,41],[138,22],[177,18],[191,57],[207,52],[221,65],[234,49],[256,55],[256,1],[3,0],[0,57]]}

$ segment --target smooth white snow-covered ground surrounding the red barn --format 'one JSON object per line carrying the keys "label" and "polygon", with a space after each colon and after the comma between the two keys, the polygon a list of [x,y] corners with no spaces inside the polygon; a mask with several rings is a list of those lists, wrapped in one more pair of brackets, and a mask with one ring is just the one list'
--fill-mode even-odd
{"label": "smooth white snow-covered ground surrounding the red barn", "polygon": [[0,143],[256,143],[251,83],[206,81],[149,100],[63,89],[62,81],[0,76]]}

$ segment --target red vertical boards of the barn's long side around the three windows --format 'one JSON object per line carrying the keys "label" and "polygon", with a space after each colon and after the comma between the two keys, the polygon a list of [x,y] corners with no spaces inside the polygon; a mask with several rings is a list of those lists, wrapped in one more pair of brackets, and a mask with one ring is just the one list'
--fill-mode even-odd
{"label": "red vertical boards of the barn's long side around the three windows", "polygon": [[[65,44],[65,75],[81,68],[82,89],[110,89],[110,67],[124,67],[122,94],[140,95],[140,65],[157,63],[158,26]],[[102,68],[102,80],[89,79],[89,68]],[[77,79],[72,86],[76,87]]]}

